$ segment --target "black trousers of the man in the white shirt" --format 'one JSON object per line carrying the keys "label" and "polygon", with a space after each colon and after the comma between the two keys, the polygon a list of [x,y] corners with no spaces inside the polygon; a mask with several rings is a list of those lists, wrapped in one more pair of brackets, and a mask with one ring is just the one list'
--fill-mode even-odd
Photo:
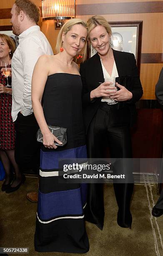
{"label": "black trousers of the man in the white shirt", "polygon": [[38,129],[34,114],[24,116],[18,113],[15,121],[15,161],[21,169],[33,169],[37,173],[40,166],[40,145],[36,141]]}

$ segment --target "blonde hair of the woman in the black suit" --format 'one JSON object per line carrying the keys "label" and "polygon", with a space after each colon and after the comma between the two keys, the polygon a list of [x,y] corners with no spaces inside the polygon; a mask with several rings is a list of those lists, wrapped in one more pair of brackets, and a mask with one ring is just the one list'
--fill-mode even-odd
{"label": "blonde hair of the woman in the black suit", "polygon": [[103,18],[103,16],[95,15],[87,20],[87,24],[88,24],[88,36],[90,35],[90,31],[97,26],[103,26],[110,36],[112,34],[111,27],[108,21],[105,20],[105,18]]}

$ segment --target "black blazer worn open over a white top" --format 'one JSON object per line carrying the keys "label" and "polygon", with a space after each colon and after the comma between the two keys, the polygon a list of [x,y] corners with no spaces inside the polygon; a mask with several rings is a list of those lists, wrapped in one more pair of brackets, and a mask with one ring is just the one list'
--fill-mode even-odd
{"label": "black blazer worn open over a white top", "polygon": [[[126,87],[133,94],[131,100],[118,102],[117,105],[118,108],[124,108],[126,105],[130,108],[131,123],[133,123],[136,115],[135,102],[143,95],[143,88],[138,75],[135,56],[128,52],[115,50],[113,50],[113,55],[119,77],[127,77]],[[90,121],[98,110],[101,101],[101,97],[91,101],[90,92],[100,85],[99,82],[104,82],[103,69],[98,53],[80,64],[80,75],[83,82],[83,118],[85,131],[87,133]]]}

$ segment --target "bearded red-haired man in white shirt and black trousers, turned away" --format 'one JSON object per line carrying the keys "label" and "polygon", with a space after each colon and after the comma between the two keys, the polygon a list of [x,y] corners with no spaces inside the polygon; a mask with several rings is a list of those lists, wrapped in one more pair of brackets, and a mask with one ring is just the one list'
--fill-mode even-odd
{"label": "bearded red-haired man in white shirt and black trousers, turned away", "polygon": [[[38,169],[40,158],[40,148],[36,141],[38,124],[31,102],[33,69],[41,55],[53,55],[47,38],[37,26],[39,19],[40,10],[34,3],[30,0],[15,1],[11,10],[13,33],[19,37],[19,46],[12,59],[12,118],[16,130],[15,160],[20,167],[29,169]],[[16,190],[14,189],[13,191]]]}

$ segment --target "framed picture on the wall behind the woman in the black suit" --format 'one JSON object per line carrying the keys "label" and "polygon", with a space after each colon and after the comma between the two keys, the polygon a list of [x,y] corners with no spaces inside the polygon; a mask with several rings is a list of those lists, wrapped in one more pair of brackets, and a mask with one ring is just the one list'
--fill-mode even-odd
{"label": "framed picture on the wall behind the woman in the black suit", "polygon": [[[112,30],[111,47],[117,51],[133,53],[140,74],[143,21],[110,21],[109,24]],[[96,52],[93,52],[92,46],[90,46],[90,57]]]}

